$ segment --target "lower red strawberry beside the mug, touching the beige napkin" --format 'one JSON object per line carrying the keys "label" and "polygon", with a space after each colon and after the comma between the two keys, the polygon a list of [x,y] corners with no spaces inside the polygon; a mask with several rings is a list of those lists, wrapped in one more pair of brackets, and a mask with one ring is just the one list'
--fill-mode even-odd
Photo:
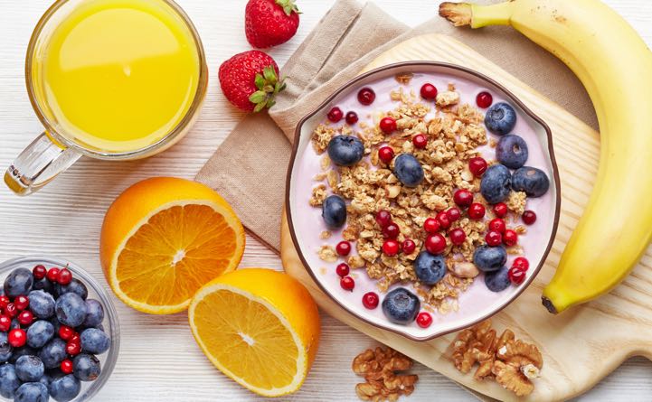
{"label": "lower red strawberry beside the mug, touching the beige napkin", "polygon": [[224,61],[219,77],[224,96],[247,111],[271,108],[274,97],[285,89],[276,61],[262,51],[245,51]]}

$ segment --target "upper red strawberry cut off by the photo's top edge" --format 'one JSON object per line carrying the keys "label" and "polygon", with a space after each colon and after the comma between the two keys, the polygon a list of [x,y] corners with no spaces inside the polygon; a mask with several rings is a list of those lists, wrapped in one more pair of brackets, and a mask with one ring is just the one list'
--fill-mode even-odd
{"label": "upper red strawberry cut off by the photo's top edge", "polygon": [[255,48],[288,42],[297,33],[298,14],[294,0],[250,0],[244,12],[247,41]]}

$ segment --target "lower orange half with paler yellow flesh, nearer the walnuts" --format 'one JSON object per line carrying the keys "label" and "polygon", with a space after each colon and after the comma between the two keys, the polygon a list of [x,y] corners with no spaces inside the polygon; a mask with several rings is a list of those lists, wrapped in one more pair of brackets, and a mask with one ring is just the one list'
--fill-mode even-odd
{"label": "lower orange half with paler yellow flesh, nearer the walnuts", "polygon": [[317,304],[297,280],[270,269],[241,269],[204,285],[188,319],[213,365],[265,397],[300,388],[317,355]]}

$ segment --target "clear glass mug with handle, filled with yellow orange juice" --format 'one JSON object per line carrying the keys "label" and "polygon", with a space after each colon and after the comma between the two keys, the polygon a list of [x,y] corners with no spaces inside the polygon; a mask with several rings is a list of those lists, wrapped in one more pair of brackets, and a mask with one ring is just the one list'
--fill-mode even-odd
{"label": "clear glass mug with handle, filled with yellow orange juice", "polygon": [[174,145],[199,115],[208,69],[172,0],[59,0],[34,29],[25,80],[45,131],[5,173],[19,195],[81,155],[139,159]]}

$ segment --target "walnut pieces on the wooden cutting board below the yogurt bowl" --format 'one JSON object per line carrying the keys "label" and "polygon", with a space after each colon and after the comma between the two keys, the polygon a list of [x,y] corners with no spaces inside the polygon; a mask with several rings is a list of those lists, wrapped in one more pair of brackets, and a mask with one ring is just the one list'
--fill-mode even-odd
{"label": "walnut pieces on the wooden cutting board below the yogurt bowl", "polygon": [[543,367],[543,356],[534,344],[515,340],[510,330],[497,336],[489,320],[459,332],[451,348],[460,372],[467,374],[477,364],[474,379],[496,379],[518,397],[534,391],[532,380]]}

